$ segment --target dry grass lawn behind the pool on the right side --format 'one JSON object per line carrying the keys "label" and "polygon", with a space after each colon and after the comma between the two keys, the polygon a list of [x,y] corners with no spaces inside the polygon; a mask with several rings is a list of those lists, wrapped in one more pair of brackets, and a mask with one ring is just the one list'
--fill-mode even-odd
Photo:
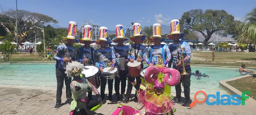
{"label": "dry grass lawn behind the pool on the right side", "polygon": [[[191,64],[202,65],[227,65],[241,66],[245,64],[247,67],[256,67],[256,52],[216,52],[215,59],[212,61],[212,52],[208,51],[192,51],[193,57],[200,57],[204,60],[193,60]],[[225,63],[228,62],[228,63]]]}

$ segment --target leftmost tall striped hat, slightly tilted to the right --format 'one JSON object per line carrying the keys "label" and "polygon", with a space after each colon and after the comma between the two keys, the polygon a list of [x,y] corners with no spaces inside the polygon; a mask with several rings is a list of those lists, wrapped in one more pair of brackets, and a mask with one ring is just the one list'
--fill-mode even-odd
{"label": "leftmost tall striped hat, slightly tilted to the right", "polygon": [[77,22],[69,21],[68,35],[67,37],[62,37],[62,40],[66,41],[67,39],[76,39],[76,30],[77,30]]}

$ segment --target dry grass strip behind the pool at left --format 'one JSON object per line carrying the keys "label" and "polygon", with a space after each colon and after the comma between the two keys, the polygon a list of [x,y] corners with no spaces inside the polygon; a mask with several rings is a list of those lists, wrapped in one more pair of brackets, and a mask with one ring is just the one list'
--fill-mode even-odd
{"label": "dry grass strip behind the pool at left", "polygon": [[[34,53],[34,55],[30,55],[29,53],[18,53],[18,54],[12,54],[10,61],[11,62],[29,62],[29,61],[33,62],[33,61],[45,61],[45,59],[44,57],[40,57],[38,53]],[[52,59],[52,61],[55,61],[55,60]],[[4,59],[0,58],[0,62],[4,62]]]}

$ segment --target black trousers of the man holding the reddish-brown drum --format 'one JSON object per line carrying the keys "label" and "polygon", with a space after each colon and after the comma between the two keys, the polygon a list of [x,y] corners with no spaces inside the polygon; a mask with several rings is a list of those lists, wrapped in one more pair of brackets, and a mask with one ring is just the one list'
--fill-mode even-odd
{"label": "black trousers of the man holding the reddish-brown drum", "polygon": [[128,74],[128,84],[127,84],[127,91],[126,91],[126,96],[127,98],[130,98],[131,93],[132,93],[132,81],[134,81],[136,79],[136,85],[134,86],[134,88],[136,89],[136,94],[135,94],[135,98],[137,98],[137,92],[140,88],[140,84],[141,84],[141,79],[140,76],[139,77],[132,77],[131,75]]}

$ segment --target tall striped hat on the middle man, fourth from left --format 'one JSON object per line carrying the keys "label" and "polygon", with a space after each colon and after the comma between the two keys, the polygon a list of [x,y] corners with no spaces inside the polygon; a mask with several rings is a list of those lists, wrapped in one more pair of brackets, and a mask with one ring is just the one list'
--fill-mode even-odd
{"label": "tall striped hat on the middle man, fourth from left", "polygon": [[116,37],[114,37],[112,41],[117,43],[119,39],[127,40],[127,38],[124,37],[124,26],[121,24],[116,25]]}

